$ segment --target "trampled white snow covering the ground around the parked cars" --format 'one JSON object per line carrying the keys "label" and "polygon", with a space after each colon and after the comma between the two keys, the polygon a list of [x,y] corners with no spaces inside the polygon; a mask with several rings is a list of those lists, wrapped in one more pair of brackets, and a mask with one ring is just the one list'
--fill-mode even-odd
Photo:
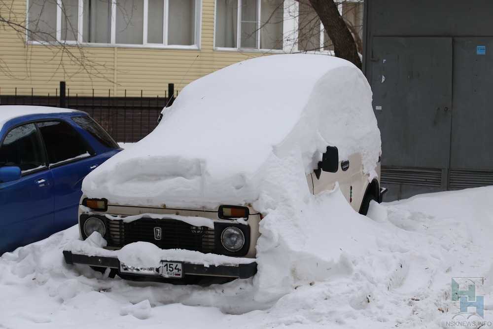
{"label": "trampled white snow covering the ground around the parked cars", "polygon": [[481,328],[493,328],[491,200],[493,187],[484,187],[373,204],[375,248],[343,254],[347,266],[330,280],[268,302],[255,298],[252,280],[172,286],[67,266],[61,251],[78,236],[72,227],[0,257],[0,328],[466,328],[450,323],[459,312],[453,277],[485,277]]}

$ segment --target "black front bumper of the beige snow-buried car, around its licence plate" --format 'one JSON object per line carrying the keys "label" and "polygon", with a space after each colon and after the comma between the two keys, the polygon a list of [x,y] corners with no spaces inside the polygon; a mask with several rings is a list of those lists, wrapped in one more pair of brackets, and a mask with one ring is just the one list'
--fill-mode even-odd
{"label": "black front bumper of the beige snow-buried car, around its licence plate", "polygon": [[[64,250],[63,256],[67,264],[86,264],[90,266],[109,267],[120,271],[120,261],[116,257],[104,257],[104,256],[87,256],[73,254],[71,251]],[[203,264],[193,264],[182,262],[184,277],[188,275],[203,275],[203,276],[216,276],[216,277],[228,277],[246,279],[252,277],[257,273],[257,263],[251,262],[247,264],[234,264],[234,265],[210,265],[205,266]],[[127,273],[125,273],[127,274]],[[133,275],[136,278],[146,278],[149,281],[161,281],[160,276],[137,274]],[[152,280],[156,279],[156,280]],[[171,279],[179,280],[179,279]]]}

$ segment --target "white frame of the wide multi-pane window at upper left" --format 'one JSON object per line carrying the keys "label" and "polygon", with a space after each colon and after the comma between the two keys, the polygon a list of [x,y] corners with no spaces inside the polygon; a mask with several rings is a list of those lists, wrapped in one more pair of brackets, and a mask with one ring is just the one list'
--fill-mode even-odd
{"label": "white frame of the wide multi-pane window at upper left", "polygon": [[[110,43],[100,43],[100,42],[83,42],[83,18],[84,18],[84,1],[78,0],[78,19],[77,19],[77,41],[74,40],[62,40],[62,0],[57,0],[57,21],[56,21],[56,39],[57,41],[36,41],[30,40],[28,32],[26,31],[26,42],[28,44],[67,44],[67,45],[82,45],[88,47],[122,47],[122,48],[162,48],[162,49],[191,49],[200,50],[201,47],[201,36],[202,36],[202,0],[195,0],[195,21],[194,21],[194,38],[195,42],[192,45],[179,45],[179,44],[168,44],[168,8],[169,0],[164,1],[164,12],[163,12],[163,43],[148,43],[147,42],[147,23],[148,23],[148,6],[149,0],[143,0],[143,32],[142,32],[142,44],[127,44],[127,43],[116,43],[116,0],[111,0],[111,35]],[[27,0],[26,6],[26,17],[27,24],[29,24],[29,0]],[[29,26],[27,26],[27,30]]]}

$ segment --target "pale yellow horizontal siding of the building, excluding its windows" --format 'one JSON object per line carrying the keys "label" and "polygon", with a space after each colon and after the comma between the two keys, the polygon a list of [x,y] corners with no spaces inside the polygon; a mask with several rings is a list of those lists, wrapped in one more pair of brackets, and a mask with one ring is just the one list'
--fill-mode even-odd
{"label": "pale yellow horizontal siding of the building, excluding its windows", "polygon": [[[19,20],[25,19],[26,0],[13,0]],[[59,48],[27,45],[12,30],[0,31],[0,94],[54,94],[60,80],[67,81],[70,94],[110,94],[122,96],[164,96],[168,83],[175,89],[203,75],[258,53],[215,51],[213,49],[214,0],[202,0],[202,31],[200,50],[174,50],[123,47],[83,47],[83,65],[74,63]],[[72,52],[82,58],[76,47]],[[196,59],[197,55],[199,57]],[[195,63],[192,65],[193,61]],[[185,73],[188,72],[188,74]],[[179,82],[183,79],[183,82]]]}

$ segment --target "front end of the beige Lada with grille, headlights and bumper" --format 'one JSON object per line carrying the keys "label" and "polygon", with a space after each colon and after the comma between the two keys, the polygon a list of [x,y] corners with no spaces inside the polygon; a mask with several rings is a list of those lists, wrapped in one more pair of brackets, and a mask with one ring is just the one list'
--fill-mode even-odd
{"label": "front end of the beige Lada with grille, headlights and bumper", "polygon": [[106,251],[146,242],[163,251],[175,251],[174,256],[149,267],[124,263],[117,255],[105,253],[64,250],[63,254],[68,264],[110,268],[130,280],[179,283],[192,276],[244,279],[257,270],[255,245],[260,219],[251,206],[223,205],[212,210],[140,207],[83,196],[78,222],[81,240],[98,232],[106,240]]}

